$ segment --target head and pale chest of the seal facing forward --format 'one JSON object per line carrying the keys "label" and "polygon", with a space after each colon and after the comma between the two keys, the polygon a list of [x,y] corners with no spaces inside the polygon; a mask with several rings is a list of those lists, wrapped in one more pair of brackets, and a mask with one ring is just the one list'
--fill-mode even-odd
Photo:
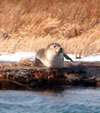
{"label": "head and pale chest of the seal facing forward", "polygon": [[58,43],[51,43],[45,49],[45,64],[49,68],[64,66],[63,49]]}

